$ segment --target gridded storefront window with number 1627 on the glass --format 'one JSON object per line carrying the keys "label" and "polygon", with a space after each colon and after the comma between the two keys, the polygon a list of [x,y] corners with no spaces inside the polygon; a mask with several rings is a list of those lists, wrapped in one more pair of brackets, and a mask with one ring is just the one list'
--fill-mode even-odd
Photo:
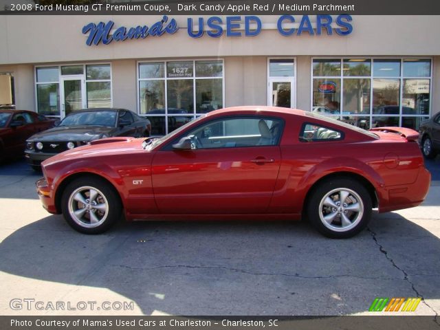
{"label": "gridded storefront window with number 1627 on the glass", "polygon": [[138,70],[140,114],[148,115],[152,135],[223,108],[222,60],[139,63]]}

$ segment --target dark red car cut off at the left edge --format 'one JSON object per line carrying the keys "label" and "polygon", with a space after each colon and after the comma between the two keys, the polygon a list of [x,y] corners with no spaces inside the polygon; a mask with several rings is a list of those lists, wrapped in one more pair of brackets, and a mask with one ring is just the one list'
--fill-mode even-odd
{"label": "dark red car cut off at the left edge", "polygon": [[31,135],[54,126],[54,120],[26,110],[0,110],[0,161],[20,157]]}

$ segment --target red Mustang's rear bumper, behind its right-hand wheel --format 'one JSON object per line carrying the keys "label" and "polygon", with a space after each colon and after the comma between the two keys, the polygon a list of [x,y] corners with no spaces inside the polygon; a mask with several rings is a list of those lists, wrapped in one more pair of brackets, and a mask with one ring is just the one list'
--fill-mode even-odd
{"label": "red Mustang's rear bumper, behind its right-hand wheel", "polygon": [[379,212],[419,206],[425,200],[426,195],[428,195],[430,182],[431,174],[423,167],[419,170],[419,175],[412,184],[380,188],[382,198],[379,203]]}

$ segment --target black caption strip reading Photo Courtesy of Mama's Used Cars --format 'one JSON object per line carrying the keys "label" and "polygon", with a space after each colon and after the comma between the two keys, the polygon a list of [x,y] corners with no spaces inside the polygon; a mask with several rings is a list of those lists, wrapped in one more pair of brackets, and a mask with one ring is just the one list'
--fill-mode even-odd
{"label": "black caption strip reading Photo Courtesy of Mama's Used Cars", "polygon": [[0,316],[1,330],[428,330],[435,316]]}

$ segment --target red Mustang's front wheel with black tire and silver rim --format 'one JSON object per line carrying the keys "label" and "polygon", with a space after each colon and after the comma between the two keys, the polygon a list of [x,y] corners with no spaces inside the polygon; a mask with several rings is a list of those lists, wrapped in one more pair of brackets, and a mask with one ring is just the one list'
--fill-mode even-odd
{"label": "red Mustang's front wheel with black tire and silver rim", "polygon": [[104,179],[80,177],[63,191],[61,210],[64,219],[74,230],[84,234],[100,234],[121,219],[122,204],[118,192]]}

